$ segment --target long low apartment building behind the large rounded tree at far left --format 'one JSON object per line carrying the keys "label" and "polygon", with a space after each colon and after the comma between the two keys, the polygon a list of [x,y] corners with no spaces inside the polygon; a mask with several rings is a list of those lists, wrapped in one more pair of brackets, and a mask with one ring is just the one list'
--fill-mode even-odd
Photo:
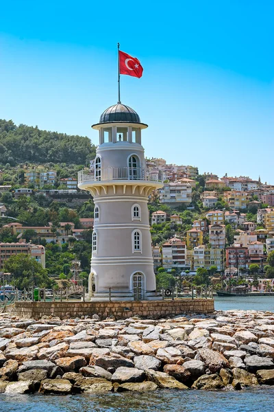
{"label": "long low apartment building behind the large rounded tree at far left", "polygon": [[0,243],[0,271],[3,271],[3,265],[10,256],[25,253],[31,256],[37,262],[46,267],[45,247],[37,244],[27,243],[25,240],[19,240],[18,243]]}

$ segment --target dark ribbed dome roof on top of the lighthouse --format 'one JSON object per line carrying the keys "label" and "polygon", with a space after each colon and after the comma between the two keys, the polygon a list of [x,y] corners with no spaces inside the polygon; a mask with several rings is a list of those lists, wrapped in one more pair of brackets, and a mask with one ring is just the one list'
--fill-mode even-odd
{"label": "dark ribbed dome roof on top of the lighthouse", "polygon": [[140,123],[140,117],[133,108],[117,103],[105,109],[99,120],[99,123],[115,122]]}

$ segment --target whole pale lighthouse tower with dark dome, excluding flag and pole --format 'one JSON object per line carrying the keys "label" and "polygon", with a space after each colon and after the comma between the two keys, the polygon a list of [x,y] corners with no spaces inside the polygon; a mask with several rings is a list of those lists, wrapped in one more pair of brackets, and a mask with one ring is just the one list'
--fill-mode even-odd
{"label": "whole pale lighthouse tower with dark dome, excluding flag and pole", "polygon": [[147,124],[118,103],[92,128],[99,130],[94,168],[78,176],[95,203],[90,299],[157,299],[147,201],[162,183],[147,176],[141,143]]}

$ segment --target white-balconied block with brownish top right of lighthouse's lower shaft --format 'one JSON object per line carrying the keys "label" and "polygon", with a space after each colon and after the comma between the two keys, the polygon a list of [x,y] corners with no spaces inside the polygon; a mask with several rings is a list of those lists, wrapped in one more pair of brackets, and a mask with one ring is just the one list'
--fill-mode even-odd
{"label": "white-balconied block with brownish top right of lighthouse's lower shaft", "polygon": [[162,266],[166,270],[186,267],[186,242],[179,238],[169,239],[162,245]]}

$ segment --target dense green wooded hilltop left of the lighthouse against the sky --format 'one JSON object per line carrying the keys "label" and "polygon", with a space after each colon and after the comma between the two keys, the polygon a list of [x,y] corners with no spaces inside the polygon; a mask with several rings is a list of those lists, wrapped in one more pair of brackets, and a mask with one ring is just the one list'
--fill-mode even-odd
{"label": "dense green wooded hilltop left of the lighthouse against the sky", "polygon": [[37,126],[16,126],[0,119],[1,163],[74,163],[85,165],[95,157],[95,146],[88,137],[40,130]]}

